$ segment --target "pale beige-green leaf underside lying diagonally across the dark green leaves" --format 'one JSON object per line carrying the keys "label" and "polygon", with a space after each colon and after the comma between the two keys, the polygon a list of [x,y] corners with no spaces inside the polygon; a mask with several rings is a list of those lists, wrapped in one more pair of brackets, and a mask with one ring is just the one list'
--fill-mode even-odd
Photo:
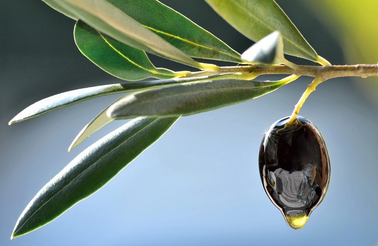
{"label": "pale beige-green leaf underside lying diagonally across the dark green leaves", "polygon": [[218,68],[194,61],[107,0],[55,0],[55,3],[96,30],[133,48],[201,69]]}

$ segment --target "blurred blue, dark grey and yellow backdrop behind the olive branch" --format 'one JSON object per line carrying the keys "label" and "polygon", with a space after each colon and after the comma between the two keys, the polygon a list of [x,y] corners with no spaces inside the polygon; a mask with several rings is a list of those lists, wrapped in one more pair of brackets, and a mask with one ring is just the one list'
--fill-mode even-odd
{"label": "blurred blue, dark grey and yellow backdrop behind the olive branch", "polygon": [[[163,2],[240,53],[252,45],[203,0]],[[278,3],[329,62],[378,62],[376,0]],[[10,241],[37,191],[124,122],[109,124],[71,153],[67,148],[76,134],[120,95],[8,126],[17,113],[45,97],[121,81],[81,55],[73,40],[75,21],[41,0],[2,0],[0,23],[0,245],[378,245],[377,77],[327,81],[301,110],[321,130],[332,167],[328,194],[301,230],[289,228],[265,195],[257,156],[264,131],[291,114],[310,78],[180,119],[93,196]]]}

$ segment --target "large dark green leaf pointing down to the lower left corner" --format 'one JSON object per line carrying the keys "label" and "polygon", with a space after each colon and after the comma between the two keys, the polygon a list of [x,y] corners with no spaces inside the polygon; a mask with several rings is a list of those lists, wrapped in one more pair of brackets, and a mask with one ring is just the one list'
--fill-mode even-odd
{"label": "large dark green leaf pointing down to the lower left corner", "polygon": [[137,118],[103,137],[47,183],[19,217],[12,237],[51,222],[108,183],[178,118]]}

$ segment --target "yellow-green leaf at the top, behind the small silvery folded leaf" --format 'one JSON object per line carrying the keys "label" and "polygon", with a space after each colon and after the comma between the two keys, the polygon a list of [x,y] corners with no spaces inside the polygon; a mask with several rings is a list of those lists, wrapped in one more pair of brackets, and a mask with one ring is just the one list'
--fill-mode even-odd
{"label": "yellow-green leaf at the top, behind the small silvery folded leaf", "polygon": [[273,31],[284,39],[284,53],[323,64],[274,0],[206,0],[236,30],[257,42]]}

